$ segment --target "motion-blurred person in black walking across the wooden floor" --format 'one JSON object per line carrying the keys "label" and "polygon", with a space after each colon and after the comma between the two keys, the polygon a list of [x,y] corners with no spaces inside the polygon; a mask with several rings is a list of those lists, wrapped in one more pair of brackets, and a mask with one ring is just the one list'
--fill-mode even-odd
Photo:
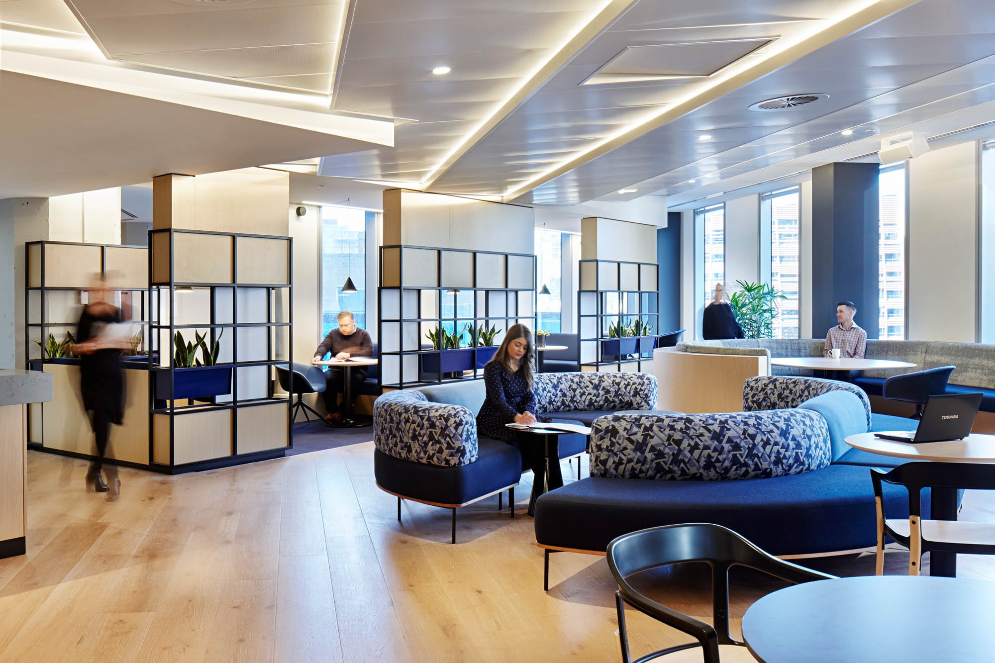
{"label": "motion-blurred person in black walking across the wooden floor", "polygon": [[109,326],[120,323],[121,314],[108,301],[110,291],[106,288],[103,275],[97,275],[88,293],[89,303],[80,316],[76,334],[79,342],[71,346],[73,353],[80,355],[80,391],[84,409],[90,413],[100,455],[100,459],[90,463],[87,488],[106,493],[104,499],[114,502],[120,497],[121,486],[117,466],[107,466],[106,483],[101,471],[110,438],[110,424],[120,425],[124,415],[124,371],[120,366],[120,351],[130,347],[130,339],[110,332]]}

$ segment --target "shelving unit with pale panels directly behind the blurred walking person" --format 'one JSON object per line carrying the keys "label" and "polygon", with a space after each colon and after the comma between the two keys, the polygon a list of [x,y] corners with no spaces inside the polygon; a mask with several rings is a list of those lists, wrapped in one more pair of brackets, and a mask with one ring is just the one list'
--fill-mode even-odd
{"label": "shelving unit with pale panels directly behind the blurred walking person", "polygon": [[[28,446],[39,451],[90,458],[97,454],[87,412],[80,402],[80,360],[50,358],[36,341],[52,333],[62,341],[76,334],[84,292],[102,274],[122,322],[141,331],[138,350],[148,347],[148,249],[141,246],[82,242],[28,242],[25,245],[24,356],[27,367],[52,373],[53,399],[28,406]],[[148,465],[145,430],[148,422],[148,358],[129,357],[125,369],[125,409],[120,426],[111,431],[108,455],[137,467]]]}

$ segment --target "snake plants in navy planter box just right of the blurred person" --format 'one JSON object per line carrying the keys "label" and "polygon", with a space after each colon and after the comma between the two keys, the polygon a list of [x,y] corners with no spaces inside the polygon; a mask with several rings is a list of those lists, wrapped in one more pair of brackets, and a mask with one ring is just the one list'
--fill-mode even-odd
{"label": "snake plants in navy planter box just right of the blurred person", "polygon": [[[181,400],[185,398],[210,398],[232,391],[232,364],[218,363],[221,350],[222,329],[218,337],[208,347],[207,334],[194,331],[194,340],[186,340],[181,331],[173,336],[173,366],[175,377],[170,379],[170,371],[160,370],[155,375],[155,397],[158,400]],[[200,357],[197,350],[200,350]]]}

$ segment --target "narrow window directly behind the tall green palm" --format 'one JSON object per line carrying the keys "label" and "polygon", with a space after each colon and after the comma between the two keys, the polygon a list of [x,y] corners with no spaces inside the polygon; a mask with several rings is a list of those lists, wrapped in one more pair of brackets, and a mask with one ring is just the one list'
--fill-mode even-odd
{"label": "narrow window directly behind the tall green palm", "polygon": [[799,198],[797,187],[774,191],[762,198],[762,210],[769,215],[770,222],[770,285],[787,298],[779,302],[774,319],[775,338],[798,337]]}

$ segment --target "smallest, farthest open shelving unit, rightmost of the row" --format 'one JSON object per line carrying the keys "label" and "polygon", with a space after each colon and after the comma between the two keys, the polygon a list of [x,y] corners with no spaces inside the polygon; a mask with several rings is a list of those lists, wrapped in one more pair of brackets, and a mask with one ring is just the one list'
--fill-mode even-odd
{"label": "smallest, farthest open shelving unit, rightmost of the row", "polygon": [[[615,260],[580,261],[577,329],[581,370],[653,369],[653,348],[660,333],[660,293],[656,263]],[[609,335],[635,321],[653,326],[642,336]]]}

